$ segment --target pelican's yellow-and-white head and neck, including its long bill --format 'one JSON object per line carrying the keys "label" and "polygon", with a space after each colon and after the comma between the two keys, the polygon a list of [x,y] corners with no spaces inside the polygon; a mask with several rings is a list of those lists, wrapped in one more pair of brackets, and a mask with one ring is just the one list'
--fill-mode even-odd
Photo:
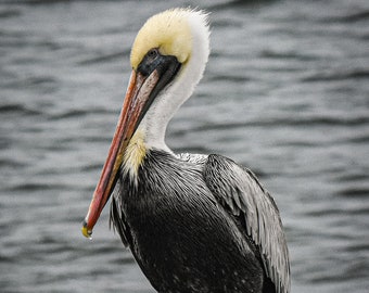
{"label": "pelican's yellow-and-white head and neck, including its long bill", "polygon": [[149,18],[133,42],[132,73],[115,135],[84,221],[90,237],[119,169],[132,180],[150,149],[169,151],[166,126],[200,81],[209,54],[206,13],[174,9]]}

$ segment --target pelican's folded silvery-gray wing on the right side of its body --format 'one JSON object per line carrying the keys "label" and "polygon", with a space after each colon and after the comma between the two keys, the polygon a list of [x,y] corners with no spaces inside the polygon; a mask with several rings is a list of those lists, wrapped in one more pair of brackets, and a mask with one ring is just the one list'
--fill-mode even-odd
{"label": "pelican's folded silvery-gray wing on the right side of its body", "polygon": [[229,213],[244,216],[244,229],[258,247],[266,275],[275,283],[277,293],[290,292],[289,252],[279,211],[256,176],[233,161],[209,155],[204,179]]}

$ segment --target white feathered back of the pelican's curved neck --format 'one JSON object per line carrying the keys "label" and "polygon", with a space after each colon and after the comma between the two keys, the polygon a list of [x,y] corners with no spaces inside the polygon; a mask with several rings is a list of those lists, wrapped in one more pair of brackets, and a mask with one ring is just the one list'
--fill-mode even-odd
{"label": "white feathered back of the pelican's curved neck", "polygon": [[193,37],[191,56],[171,84],[155,98],[138,128],[148,149],[170,151],[165,143],[166,127],[177,110],[192,94],[208,59],[209,31],[204,22],[203,15],[190,15],[189,25]]}

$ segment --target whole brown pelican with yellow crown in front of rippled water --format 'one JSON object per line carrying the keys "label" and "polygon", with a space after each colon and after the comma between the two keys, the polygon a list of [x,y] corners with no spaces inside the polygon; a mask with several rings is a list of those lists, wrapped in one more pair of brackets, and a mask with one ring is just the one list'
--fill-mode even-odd
{"label": "whole brown pelican with yellow crown in front of rippled water", "polygon": [[209,53],[206,13],[152,16],[132,46],[132,74],[84,221],[90,237],[112,194],[111,222],[161,293],[290,291],[278,208],[255,175],[220,155],[175,154],[166,126]]}

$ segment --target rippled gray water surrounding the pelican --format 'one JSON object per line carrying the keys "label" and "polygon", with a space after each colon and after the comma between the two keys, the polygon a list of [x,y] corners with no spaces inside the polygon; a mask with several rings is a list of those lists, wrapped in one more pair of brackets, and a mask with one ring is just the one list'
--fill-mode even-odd
{"label": "rippled gray water surrounding the pelican", "polygon": [[[154,292],[105,208],[80,233],[153,13],[194,1],[0,2],[0,292]],[[212,55],[168,144],[273,194],[292,292],[369,292],[369,2],[203,1]]]}

